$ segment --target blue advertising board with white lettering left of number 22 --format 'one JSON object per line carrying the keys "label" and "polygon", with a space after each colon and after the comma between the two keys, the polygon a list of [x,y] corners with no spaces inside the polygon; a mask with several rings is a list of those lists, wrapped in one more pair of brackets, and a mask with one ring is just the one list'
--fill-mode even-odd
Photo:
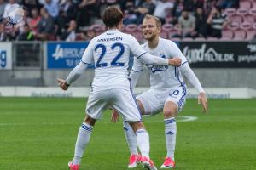
{"label": "blue advertising board with white lettering left of number 22", "polygon": [[47,68],[67,69],[75,67],[79,64],[88,44],[89,42],[48,42]]}

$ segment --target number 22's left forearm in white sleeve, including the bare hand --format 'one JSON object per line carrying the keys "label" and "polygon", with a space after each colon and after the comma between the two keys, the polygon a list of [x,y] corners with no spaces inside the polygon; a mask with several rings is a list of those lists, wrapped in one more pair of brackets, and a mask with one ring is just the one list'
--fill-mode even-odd
{"label": "number 22's left forearm in white sleeve, including the bare hand", "polygon": [[75,82],[80,75],[87,69],[88,65],[83,63],[82,61],[77,65],[73,70],[69,73],[66,80],[61,78],[57,79],[58,85],[62,90],[67,90],[68,86]]}

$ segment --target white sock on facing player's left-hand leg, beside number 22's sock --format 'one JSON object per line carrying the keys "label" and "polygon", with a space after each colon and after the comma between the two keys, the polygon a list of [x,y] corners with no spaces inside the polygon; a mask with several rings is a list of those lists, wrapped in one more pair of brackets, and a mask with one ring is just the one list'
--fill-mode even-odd
{"label": "white sock on facing player's left-hand leg, beside number 22's sock", "polygon": [[136,135],[133,132],[133,130],[128,122],[123,122],[123,124],[124,124],[125,138],[126,138],[129,150],[131,152],[131,155],[137,155]]}

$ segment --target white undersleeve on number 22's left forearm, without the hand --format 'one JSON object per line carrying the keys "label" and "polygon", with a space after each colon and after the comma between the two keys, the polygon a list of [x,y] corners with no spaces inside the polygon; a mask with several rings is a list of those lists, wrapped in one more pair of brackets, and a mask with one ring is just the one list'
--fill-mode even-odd
{"label": "white undersleeve on number 22's left forearm, without the hand", "polygon": [[88,65],[84,62],[80,62],[73,70],[69,73],[68,77],[66,78],[66,82],[68,84],[72,84],[75,82],[80,75],[88,68]]}

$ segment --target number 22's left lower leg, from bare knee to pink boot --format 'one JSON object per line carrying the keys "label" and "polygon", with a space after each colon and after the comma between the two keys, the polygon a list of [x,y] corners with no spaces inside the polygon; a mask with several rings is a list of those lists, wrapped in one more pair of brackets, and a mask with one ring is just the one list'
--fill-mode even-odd
{"label": "number 22's left lower leg, from bare knee to pink boot", "polygon": [[68,167],[71,170],[79,170],[79,165],[84,154],[84,150],[90,141],[90,134],[92,133],[92,129],[95,123],[96,120],[87,115],[81,127],[79,128],[73,161],[69,161],[68,163]]}

